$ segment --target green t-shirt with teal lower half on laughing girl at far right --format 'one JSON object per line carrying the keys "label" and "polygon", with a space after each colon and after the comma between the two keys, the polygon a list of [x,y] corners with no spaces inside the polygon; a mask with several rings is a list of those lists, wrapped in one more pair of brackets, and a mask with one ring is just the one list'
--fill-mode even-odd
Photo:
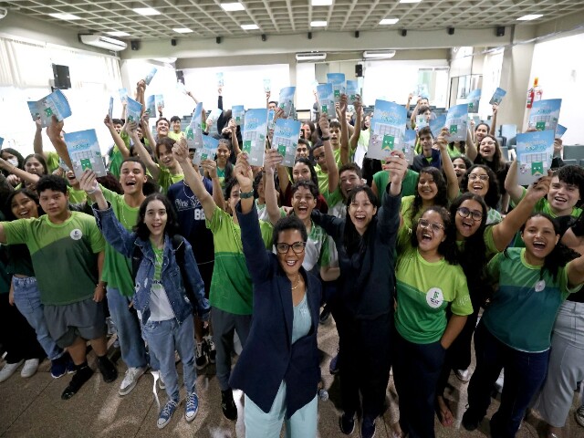
{"label": "green t-shirt with teal lower half on laughing girl at far right", "polygon": [[559,268],[557,281],[548,272],[540,280],[541,266],[529,265],[525,251],[507,248],[506,255],[495,255],[487,265],[488,275],[499,286],[483,322],[508,347],[541,352],[549,349],[559,306],[580,286],[568,288],[566,267]]}

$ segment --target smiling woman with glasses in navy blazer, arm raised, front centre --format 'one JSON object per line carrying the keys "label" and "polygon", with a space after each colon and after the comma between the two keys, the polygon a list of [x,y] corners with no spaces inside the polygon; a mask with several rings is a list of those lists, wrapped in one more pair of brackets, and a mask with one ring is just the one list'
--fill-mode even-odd
{"label": "smiling woman with glasses in navy blazer, arm raised, front centre", "polygon": [[245,392],[245,436],[317,435],[317,328],[321,288],[302,267],[307,230],[297,217],[274,228],[277,254],[267,252],[253,197],[253,175],[240,155],[235,166],[241,202],[237,219],[254,284],[252,327],[230,385]]}

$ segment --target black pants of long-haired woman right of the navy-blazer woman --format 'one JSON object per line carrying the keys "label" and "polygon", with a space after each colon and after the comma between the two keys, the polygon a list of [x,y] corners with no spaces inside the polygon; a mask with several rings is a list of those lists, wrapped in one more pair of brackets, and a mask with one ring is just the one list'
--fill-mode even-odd
{"label": "black pants of long-haired woman right of the navy-blazer woman", "polygon": [[361,394],[363,418],[374,420],[385,410],[393,315],[357,319],[340,306],[332,315],[339,331],[341,407],[349,415],[358,412]]}

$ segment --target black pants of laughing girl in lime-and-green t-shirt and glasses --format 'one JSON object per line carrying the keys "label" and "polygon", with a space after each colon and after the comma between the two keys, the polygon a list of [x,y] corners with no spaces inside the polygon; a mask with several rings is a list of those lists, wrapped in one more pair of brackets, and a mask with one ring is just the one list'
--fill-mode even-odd
{"label": "black pants of laughing girl in lime-and-green t-shirt and glasses", "polygon": [[400,425],[410,438],[433,438],[436,383],[446,350],[440,341],[414,344],[396,332],[393,380],[400,399]]}

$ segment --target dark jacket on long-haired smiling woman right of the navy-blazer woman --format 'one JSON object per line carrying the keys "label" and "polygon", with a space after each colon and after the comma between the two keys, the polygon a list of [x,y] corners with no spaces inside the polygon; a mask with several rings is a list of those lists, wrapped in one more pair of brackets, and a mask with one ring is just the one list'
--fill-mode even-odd
{"label": "dark jacket on long-haired smiling woman right of the navy-blazer woman", "polygon": [[400,226],[401,194],[391,196],[391,183],[383,193],[382,205],[373,217],[360,254],[349,255],[343,242],[345,224],[339,219],[312,211],[312,220],[322,226],[337,245],[340,277],[336,299],[350,315],[375,319],[393,312],[395,293],[395,242]]}

